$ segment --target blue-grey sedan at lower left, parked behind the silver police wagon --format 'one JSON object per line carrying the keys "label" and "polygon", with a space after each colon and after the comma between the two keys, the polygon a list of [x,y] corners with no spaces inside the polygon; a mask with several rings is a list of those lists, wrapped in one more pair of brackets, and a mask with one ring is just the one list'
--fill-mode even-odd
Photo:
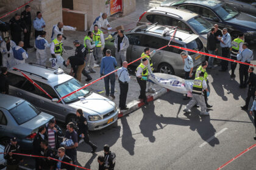
{"label": "blue-grey sedan at lower left, parked behind the silver police wagon", "polygon": [[52,118],[26,100],[0,94],[0,141],[4,146],[16,137],[23,149],[31,149],[38,127]]}

